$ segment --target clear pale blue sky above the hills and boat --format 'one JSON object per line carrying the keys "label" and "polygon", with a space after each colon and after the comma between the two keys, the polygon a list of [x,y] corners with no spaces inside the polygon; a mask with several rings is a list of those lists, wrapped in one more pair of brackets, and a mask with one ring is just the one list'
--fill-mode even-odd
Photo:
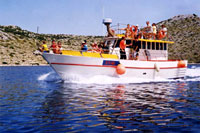
{"label": "clear pale blue sky above the hills and boat", "polygon": [[0,25],[45,34],[105,35],[103,18],[145,26],[187,14],[200,16],[200,0],[0,0]]}

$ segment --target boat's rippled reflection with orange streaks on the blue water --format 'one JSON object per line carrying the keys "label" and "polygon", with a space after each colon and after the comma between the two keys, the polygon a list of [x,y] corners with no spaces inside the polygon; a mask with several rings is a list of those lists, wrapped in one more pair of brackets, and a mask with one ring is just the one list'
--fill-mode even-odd
{"label": "boat's rippled reflection with orange streaks on the blue water", "polygon": [[184,82],[62,82],[58,87],[46,96],[42,119],[64,131],[167,131],[181,126],[187,131],[191,123],[185,124],[184,119],[194,119],[193,114],[188,116],[190,86]]}

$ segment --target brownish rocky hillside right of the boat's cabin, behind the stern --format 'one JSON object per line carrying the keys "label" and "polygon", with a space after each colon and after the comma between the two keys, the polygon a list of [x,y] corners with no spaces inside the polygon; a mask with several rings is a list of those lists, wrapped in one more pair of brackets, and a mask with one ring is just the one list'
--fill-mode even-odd
{"label": "brownish rocky hillside right of the boat's cabin, behind the stern", "polygon": [[169,40],[175,44],[169,46],[170,59],[187,59],[190,63],[200,63],[200,18],[195,15],[178,15],[162,21],[169,32]]}

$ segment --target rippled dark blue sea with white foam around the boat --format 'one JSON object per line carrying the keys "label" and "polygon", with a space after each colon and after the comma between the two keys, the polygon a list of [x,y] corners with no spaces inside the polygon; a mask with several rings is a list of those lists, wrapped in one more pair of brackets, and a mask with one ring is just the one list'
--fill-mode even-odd
{"label": "rippled dark blue sea with white foam around the boat", "polygon": [[200,65],[177,80],[0,67],[0,132],[200,132]]}

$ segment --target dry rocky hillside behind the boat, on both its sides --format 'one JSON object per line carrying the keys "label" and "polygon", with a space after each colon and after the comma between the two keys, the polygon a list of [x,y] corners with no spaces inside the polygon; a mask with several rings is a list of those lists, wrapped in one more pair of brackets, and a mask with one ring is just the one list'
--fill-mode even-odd
{"label": "dry rocky hillside behind the boat, on both its sides", "polygon": [[[157,23],[165,24],[169,39],[175,44],[169,46],[169,59],[187,59],[190,63],[200,63],[200,18],[195,15],[178,15]],[[83,40],[88,44],[100,42],[101,36],[37,34],[18,26],[0,26],[0,65],[41,65],[46,64],[41,56],[33,52],[42,40],[61,41],[64,49],[80,49]]]}

